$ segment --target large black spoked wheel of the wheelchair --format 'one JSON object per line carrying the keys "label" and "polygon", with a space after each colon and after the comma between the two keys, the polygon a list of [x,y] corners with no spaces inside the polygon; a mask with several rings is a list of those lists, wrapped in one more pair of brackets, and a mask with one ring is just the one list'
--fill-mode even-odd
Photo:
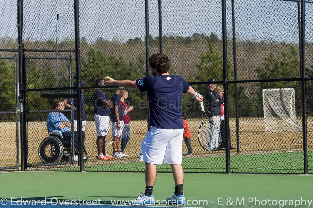
{"label": "large black spoked wheel of the wheelchair", "polygon": [[39,157],[44,163],[53,163],[61,159],[63,155],[62,142],[54,137],[48,136],[39,145]]}

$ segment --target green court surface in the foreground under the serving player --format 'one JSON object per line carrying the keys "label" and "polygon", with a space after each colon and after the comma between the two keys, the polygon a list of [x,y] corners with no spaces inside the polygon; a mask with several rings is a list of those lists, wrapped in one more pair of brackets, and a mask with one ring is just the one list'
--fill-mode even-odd
{"label": "green court surface in the foreground under the serving player", "polygon": [[[15,197],[23,200],[98,200],[111,204],[111,200],[136,198],[143,191],[144,173],[109,172],[12,172],[1,173],[0,198]],[[208,204],[187,207],[279,207],[248,206],[248,197],[259,200],[313,200],[313,176],[311,175],[248,175],[248,174],[185,174],[186,200],[194,203],[207,200]],[[154,186],[155,200],[172,196],[173,176],[159,173]],[[223,206],[218,206],[218,198]],[[245,205],[226,205],[227,199],[236,202],[244,198]],[[190,203],[192,203],[190,201]],[[205,203],[205,202],[203,202]],[[311,205],[313,206],[313,205]],[[8,206],[9,207],[9,206]],[[294,207],[294,206],[284,206]],[[308,207],[308,206],[297,206]]]}

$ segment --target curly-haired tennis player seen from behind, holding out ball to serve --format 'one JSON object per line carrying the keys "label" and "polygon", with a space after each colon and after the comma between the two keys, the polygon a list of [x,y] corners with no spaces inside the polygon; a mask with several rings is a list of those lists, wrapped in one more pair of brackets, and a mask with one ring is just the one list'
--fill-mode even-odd
{"label": "curly-haired tennis player seen from behind, holding out ball to serve", "polygon": [[150,70],[153,76],[142,79],[114,80],[106,77],[108,84],[139,89],[148,92],[150,107],[151,130],[141,143],[140,160],[146,163],[145,193],[131,200],[132,205],[154,204],[152,195],[156,180],[156,165],[171,164],[175,180],[175,191],[170,204],[185,204],[183,193],[184,171],[182,169],[182,138],[184,133],[182,123],[182,93],[188,92],[197,101],[203,101],[200,94],[182,77],[169,74],[170,61],[162,53],[153,54],[149,58]]}

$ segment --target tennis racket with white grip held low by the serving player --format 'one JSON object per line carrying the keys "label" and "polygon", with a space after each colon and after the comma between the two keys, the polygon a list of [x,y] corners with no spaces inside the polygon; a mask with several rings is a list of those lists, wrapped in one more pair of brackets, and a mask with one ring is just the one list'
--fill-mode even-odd
{"label": "tennis racket with white grip held low by the serving player", "polygon": [[[198,140],[203,149],[213,151],[218,149],[221,145],[222,135],[219,131],[219,127],[210,121],[208,116],[205,114],[203,102],[199,103],[202,112],[202,120],[198,130]],[[206,117],[208,121],[206,121],[204,117]]]}

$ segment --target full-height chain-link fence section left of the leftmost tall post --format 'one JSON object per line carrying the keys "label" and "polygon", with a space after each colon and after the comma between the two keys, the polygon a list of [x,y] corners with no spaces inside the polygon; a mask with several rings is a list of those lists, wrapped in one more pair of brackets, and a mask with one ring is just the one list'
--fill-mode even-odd
{"label": "full-height chain-link fence section left of the leftmost tall post", "polygon": [[[0,172],[19,169],[16,3],[0,7]],[[15,89],[15,90],[14,90]]]}

